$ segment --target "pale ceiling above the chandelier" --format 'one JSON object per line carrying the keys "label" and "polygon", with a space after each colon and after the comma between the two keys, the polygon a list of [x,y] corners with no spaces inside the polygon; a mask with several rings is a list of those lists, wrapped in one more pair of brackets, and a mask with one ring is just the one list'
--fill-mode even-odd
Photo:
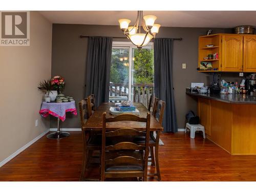
{"label": "pale ceiling above the chandelier", "polygon": [[[119,18],[134,24],[137,11],[40,11],[55,24],[119,25]],[[256,26],[256,11],[143,11],[153,14],[163,27],[219,27]]]}

